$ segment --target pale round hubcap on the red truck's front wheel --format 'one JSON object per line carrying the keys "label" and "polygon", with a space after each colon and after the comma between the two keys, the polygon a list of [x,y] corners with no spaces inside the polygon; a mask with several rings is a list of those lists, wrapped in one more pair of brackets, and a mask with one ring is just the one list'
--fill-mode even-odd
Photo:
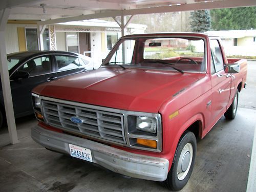
{"label": "pale round hubcap on the red truck's front wheel", "polygon": [[183,147],[178,161],[177,176],[179,180],[183,180],[187,176],[192,163],[192,159],[193,146],[191,145],[191,143],[187,143]]}

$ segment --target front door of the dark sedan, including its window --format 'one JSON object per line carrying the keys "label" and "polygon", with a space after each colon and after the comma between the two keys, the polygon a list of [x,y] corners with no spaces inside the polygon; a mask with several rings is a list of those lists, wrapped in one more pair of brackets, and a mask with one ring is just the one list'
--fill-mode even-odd
{"label": "front door of the dark sedan, including its window", "polygon": [[[31,91],[38,84],[54,80],[56,72],[52,65],[52,55],[32,58],[23,63],[10,77],[15,117],[33,113]],[[27,78],[14,78],[19,71],[29,73]]]}

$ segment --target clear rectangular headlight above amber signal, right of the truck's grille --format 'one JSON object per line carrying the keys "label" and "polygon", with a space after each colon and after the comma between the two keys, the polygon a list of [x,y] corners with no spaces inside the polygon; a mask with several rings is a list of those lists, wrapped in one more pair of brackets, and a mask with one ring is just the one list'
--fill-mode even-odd
{"label": "clear rectangular headlight above amber signal, right of the truck's grille", "polygon": [[137,130],[156,133],[157,131],[157,122],[153,117],[137,116]]}

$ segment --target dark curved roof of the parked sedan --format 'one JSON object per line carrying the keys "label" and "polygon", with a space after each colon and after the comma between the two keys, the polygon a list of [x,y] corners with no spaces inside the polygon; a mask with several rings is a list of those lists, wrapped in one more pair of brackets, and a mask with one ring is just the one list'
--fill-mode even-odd
{"label": "dark curved roof of the parked sedan", "polygon": [[72,56],[79,56],[78,53],[67,52],[67,51],[23,51],[23,52],[16,52],[10,53],[7,56],[16,56],[16,57],[34,57],[37,55],[45,55],[45,54],[66,54]]}

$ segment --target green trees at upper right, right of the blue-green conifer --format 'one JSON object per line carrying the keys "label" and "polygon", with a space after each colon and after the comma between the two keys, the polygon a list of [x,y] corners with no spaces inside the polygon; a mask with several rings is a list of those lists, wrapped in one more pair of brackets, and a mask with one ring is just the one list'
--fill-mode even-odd
{"label": "green trees at upper right, right of the blue-green conifer", "polygon": [[256,29],[256,7],[211,10],[212,29]]}

